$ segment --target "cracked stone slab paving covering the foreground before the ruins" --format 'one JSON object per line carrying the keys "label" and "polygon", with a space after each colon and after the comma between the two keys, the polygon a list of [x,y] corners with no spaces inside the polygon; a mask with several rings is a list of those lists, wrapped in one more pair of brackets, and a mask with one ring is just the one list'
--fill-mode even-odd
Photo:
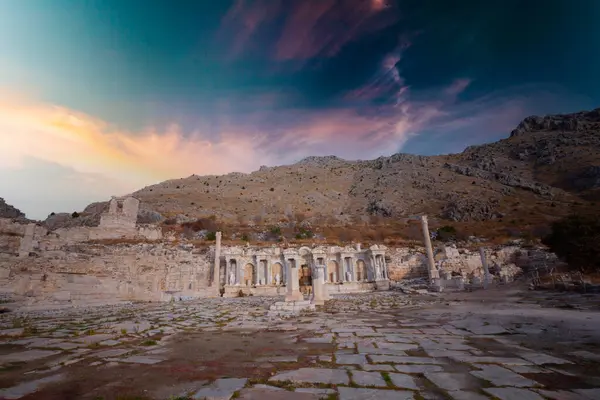
{"label": "cracked stone slab paving covering the foreground before the ruins", "polygon": [[[57,393],[73,385],[75,377],[81,380],[77,374],[108,374],[118,381],[119,373],[110,371],[131,368],[145,376],[137,397],[107,394],[109,383],[72,398],[600,399],[600,360],[593,351],[541,352],[511,341],[502,326],[428,317],[421,307],[439,303],[436,297],[416,301],[391,292],[343,296],[292,319],[269,316],[269,305],[278,300],[211,299],[4,314],[0,399],[67,398]],[[240,368],[248,366],[242,375],[232,369],[201,376],[220,360],[186,364],[193,369],[185,375],[189,379],[162,388],[153,382],[165,375],[163,365],[180,362],[177,371],[183,371],[177,346],[194,333],[209,339],[237,335],[233,337],[251,343],[260,332],[278,335],[296,353],[263,349],[253,360],[240,361]],[[259,367],[270,368],[269,374],[255,374]],[[96,389],[105,390],[96,395]]]}

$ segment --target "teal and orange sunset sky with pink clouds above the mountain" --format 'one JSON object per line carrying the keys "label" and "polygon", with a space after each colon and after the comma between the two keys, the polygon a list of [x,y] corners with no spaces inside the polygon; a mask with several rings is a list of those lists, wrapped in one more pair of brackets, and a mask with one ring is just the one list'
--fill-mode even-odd
{"label": "teal and orange sunset sky with pink clouds above the mountain", "polygon": [[0,0],[0,197],[34,219],[600,106],[597,0]]}

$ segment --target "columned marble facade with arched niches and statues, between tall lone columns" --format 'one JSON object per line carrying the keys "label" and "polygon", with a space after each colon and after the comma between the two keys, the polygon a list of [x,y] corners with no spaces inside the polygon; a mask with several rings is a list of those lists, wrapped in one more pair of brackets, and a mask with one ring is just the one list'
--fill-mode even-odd
{"label": "columned marble facade with arched niches and statues, between tall lone columns", "polygon": [[220,250],[220,284],[224,296],[283,295],[284,286],[298,276],[301,292],[308,294],[316,267],[324,269],[329,293],[356,293],[389,288],[387,247],[373,245],[254,248],[225,247]]}

